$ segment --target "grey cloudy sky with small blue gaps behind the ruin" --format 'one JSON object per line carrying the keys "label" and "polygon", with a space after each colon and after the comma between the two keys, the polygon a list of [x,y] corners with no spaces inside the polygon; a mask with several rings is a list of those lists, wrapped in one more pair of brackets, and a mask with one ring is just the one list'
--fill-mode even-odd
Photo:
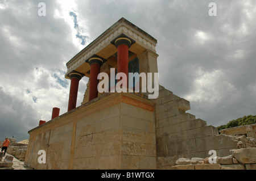
{"label": "grey cloudy sky with small blue gaps behind the ruin", "polygon": [[216,127],[256,114],[254,0],[0,0],[0,140],[27,139],[53,107],[67,112],[65,64],[122,17],[158,40],[160,85],[187,112]]}

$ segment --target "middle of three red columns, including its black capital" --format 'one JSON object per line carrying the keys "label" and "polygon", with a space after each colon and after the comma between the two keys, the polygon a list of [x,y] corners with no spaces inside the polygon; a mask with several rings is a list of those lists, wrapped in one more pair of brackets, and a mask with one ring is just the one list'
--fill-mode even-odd
{"label": "middle of three red columns, including its black capital", "polygon": [[98,97],[98,74],[100,74],[101,65],[106,62],[102,57],[94,54],[85,62],[90,64],[90,85],[89,85],[89,101]]}

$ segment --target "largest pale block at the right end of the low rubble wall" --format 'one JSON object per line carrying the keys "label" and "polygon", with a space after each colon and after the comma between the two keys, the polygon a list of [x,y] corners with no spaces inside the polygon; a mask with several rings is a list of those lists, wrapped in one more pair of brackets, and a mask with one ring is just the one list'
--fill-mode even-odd
{"label": "largest pale block at the right end of the low rubble wall", "polygon": [[230,153],[240,163],[256,163],[256,148],[230,150]]}

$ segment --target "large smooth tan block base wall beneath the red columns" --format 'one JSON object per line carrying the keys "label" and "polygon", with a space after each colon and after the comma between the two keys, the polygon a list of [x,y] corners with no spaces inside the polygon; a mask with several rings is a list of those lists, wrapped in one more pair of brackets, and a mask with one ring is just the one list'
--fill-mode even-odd
{"label": "large smooth tan block base wall beneath the red columns", "polygon": [[138,95],[104,94],[29,134],[34,169],[156,169],[154,102]]}

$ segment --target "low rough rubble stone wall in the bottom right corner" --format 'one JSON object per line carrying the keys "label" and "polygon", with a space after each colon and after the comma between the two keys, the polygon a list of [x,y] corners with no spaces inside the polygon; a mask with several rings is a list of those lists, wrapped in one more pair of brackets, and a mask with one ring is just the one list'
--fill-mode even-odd
{"label": "low rough rubble stone wall in the bottom right corner", "polygon": [[230,150],[230,155],[212,158],[179,158],[172,170],[256,170],[256,148]]}

